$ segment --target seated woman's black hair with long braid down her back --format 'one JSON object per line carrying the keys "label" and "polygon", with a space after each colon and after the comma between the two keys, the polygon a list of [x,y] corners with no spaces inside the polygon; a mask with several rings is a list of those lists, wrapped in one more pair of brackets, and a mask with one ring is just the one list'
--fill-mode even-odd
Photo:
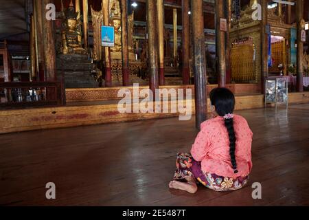
{"label": "seated woman's black hair with long braid down her back", "polygon": [[[219,116],[225,116],[232,114],[235,107],[235,96],[227,88],[216,88],[211,90],[210,94],[211,104],[216,107],[216,112]],[[229,134],[229,155],[231,157],[231,164],[234,173],[238,173],[236,163],[236,134],[233,126],[233,118],[225,118],[225,126],[227,127],[227,133]]]}

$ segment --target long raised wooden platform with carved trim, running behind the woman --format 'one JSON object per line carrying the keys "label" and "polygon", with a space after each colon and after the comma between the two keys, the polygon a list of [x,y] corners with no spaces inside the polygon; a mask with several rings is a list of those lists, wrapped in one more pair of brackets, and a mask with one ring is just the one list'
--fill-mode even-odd
{"label": "long raised wooden platform with carved trim, running behind the woman", "polygon": [[[209,85],[210,91],[216,85]],[[264,96],[258,85],[227,85],[236,94],[236,109],[258,109],[264,107]],[[117,97],[119,89],[124,87],[100,89],[67,89],[67,104],[64,107],[41,107],[0,111],[0,133],[32,131],[39,129],[56,129],[90,124],[128,122],[158,118],[171,118],[179,113],[119,113],[117,107],[121,98]],[[133,87],[126,87],[133,91]],[[139,89],[148,87],[139,87]],[[194,86],[165,86],[166,89],[192,89]],[[251,91],[251,92],[250,92]],[[289,104],[308,103],[309,92],[289,94]],[[161,105],[178,103],[176,97]],[[181,100],[183,101],[183,100]],[[209,108],[208,100],[208,108]],[[134,104],[134,103],[133,103]],[[194,115],[194,96],[192,96],[192,115]]]}

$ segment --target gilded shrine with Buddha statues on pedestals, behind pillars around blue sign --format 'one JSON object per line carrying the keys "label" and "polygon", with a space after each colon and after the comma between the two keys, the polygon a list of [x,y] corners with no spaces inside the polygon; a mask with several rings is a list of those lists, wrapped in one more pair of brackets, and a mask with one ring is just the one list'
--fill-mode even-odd
{"label": "gilded shrine with Buddha statues on pedestals, behind pillars around blue sign", "polygon": [[[104,63],[106,52],[101,46],[101,26],[104,25],[104,12],[108,13],[108,24],[115,29],[115,46],[110,49],[111,84],[122,85],[122,20],[119,0],[108,0],[101,10],[95,10],[90,3],[89,22],[84,22],[84,8],[76,1],[70,0],[65,8],[61,1],[61,12],[58,13],[57,34],[57,69],[65,78],[67,88],[102,87],[105,85]],[[108,10],[104,10],[108,7]],[[84,28],[87,25],[87,28]],[[88,30],[85,38],[84,30]],[[57,33],[58,33],[57,32]],[[89,41],[86,42],[86,41]],[[88,45],[88,47],[85,47]],[[141,72],[146,71],[146,63],[137,58],[137,41],[134,36],[134,12],[128,14],[128,58],[130,83],[147,84],[147,79],[141,78]],[[67,66],[63,68],[62,63]],[[83,83],[84,82],[84,83]]]}

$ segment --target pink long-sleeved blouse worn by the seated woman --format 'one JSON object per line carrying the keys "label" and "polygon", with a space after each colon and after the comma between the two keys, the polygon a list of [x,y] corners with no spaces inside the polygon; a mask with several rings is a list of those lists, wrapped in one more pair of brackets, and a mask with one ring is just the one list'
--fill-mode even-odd
{"label": "pink long-sleeved blouse worn by the seated woman", "polygon": [[202,170],[222,177],[245,177],[252,168],[251,143],[252,131],[247,120],[240,115],[234,115],[234,131],[236,133],[236,163],[238,173],[234,173],[229,155],[229,135],[224,118],[218,116],[201,124],[192,146],[192,157],[201,162]]}

